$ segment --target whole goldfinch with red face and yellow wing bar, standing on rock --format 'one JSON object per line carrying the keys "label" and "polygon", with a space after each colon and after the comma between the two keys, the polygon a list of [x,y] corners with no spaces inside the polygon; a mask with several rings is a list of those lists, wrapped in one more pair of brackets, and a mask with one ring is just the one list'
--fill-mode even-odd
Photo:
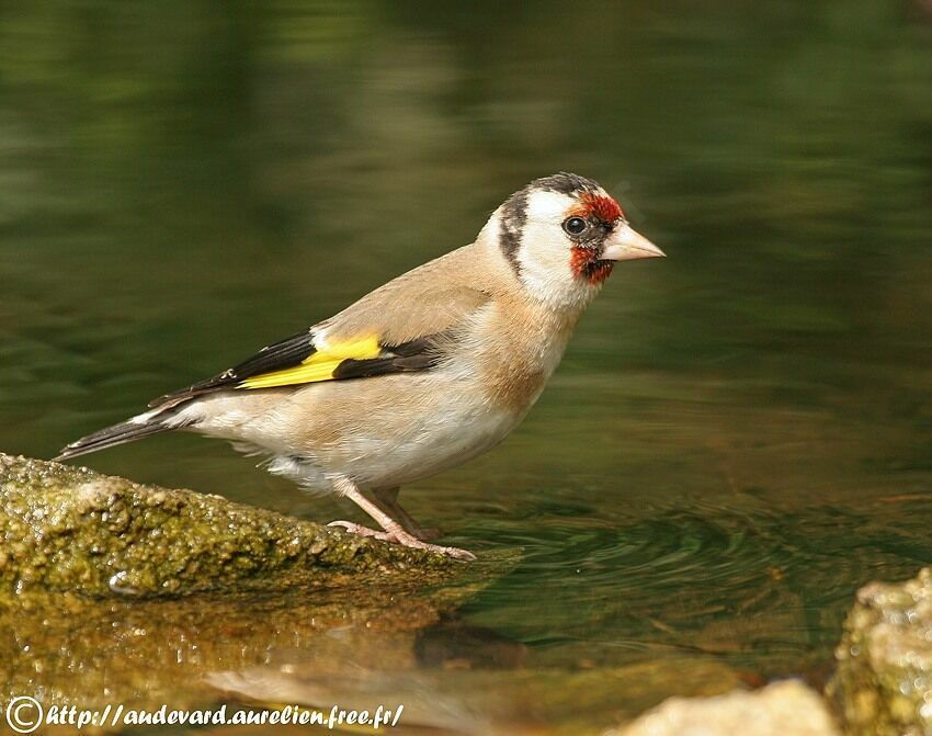
{"label": "whole goldfinch with red face and yellow wing bar, standing on rock", "polygon": [[620,261],[663,257],[596,182],[559,172],[508,197],[470,245],[370,292],[56,461],[168,430],[228,440],[269,472],[356,503],[379,526],[332,525],[475,559],[432,543],[402,486],[471,460],[524,419],[586,307]]}

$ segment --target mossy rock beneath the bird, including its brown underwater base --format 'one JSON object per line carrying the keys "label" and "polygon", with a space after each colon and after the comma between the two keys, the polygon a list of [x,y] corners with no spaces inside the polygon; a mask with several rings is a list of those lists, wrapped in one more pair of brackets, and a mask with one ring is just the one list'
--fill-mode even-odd
{"label": "mossy rock beneath the bird, including its brown underwater base", "polygon": [[0,703],[207,707],[206,679],[310,661],[407,670],[508,569],[0,454]]}

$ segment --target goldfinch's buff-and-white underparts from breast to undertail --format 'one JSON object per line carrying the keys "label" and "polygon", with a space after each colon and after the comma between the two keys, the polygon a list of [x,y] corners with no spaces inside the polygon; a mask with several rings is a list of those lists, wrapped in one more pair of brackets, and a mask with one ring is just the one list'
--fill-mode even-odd
{"label": "goldfinch's buff-and-white underparts from breast to undertail", "polygon": [[477,319],[473,339],[431,371],[208,395],[184,407],[179,423],[266,454],[270,471],[312,489],[331,490],[339,477],[363,489],[429,477],[508,437],[571,329],[501,310]]}

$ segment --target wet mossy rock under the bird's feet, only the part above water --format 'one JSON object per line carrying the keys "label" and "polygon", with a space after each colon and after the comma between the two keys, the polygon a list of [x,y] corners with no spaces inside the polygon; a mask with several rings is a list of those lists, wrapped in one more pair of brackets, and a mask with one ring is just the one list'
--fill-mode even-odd
{"label": "wet mossy rock under the bird's feet, only the part above water", "polygon": [[219,496],[0,453],[0,596],[180,595],[348,571],[429,580],[454,565]]}

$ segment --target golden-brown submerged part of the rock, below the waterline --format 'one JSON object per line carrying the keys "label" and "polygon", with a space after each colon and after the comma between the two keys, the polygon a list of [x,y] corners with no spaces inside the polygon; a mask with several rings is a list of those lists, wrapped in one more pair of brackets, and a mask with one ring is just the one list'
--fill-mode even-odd
{"label": "golden-brown submerged part of the rock, below the waterline", "polygon": [[355,576],[337,587],[178,599],[29,595],[0,602],[0,701],[206,707],[217,701],[205,680],[216,670],[309,658],[336,676],[351,666],[348,652],[357,666],[408,668],[418,633],[450,608],[436,591]]}

